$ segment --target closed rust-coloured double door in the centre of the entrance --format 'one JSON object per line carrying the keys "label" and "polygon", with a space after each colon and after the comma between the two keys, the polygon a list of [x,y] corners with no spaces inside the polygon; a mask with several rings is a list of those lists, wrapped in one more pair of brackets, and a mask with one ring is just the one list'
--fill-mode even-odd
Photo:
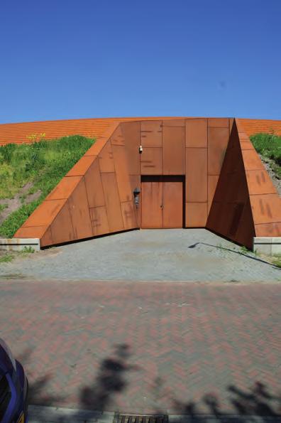
{"label": "closed rust-coloured double door in the centre of the entrance", "polygon": [[141,227],[184,226],[182,176],[142,176]]}

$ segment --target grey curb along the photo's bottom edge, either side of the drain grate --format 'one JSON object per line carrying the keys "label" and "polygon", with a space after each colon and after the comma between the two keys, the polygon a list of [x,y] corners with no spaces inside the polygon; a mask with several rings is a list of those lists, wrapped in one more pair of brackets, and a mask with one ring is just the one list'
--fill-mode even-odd
{"label": "grey curb along the photo's bottom edge, either side of the drain grate", "polygon": [[[28,423],[113,423],[114,412],[30,405]],[[169,423],[276,423],[281,417],[169,414]]]}

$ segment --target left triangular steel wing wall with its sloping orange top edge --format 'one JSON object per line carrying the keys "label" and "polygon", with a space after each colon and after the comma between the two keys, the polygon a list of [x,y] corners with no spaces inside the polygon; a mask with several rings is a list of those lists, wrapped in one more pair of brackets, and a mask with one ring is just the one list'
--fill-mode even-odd
{"label": "left triangular steel wing wall with its sloping orange top edge", "polygon": [[45,247],[137,227],[125,149],[111,124],[15,237],[39,237]]}

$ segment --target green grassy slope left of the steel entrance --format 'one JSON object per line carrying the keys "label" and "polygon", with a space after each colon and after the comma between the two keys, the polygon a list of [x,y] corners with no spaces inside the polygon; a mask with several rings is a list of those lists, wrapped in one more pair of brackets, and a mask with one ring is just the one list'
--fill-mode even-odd
{"label": "green grassy slope left of the steel entrance", "polygon": [[28,182],[33,184],[28,194],[40,191],[37,200],[23,203],[4,220],[0,225],[1,237],[13,237],[93,143],[94,139],[75,135],[33,144],[0,146],[0,198],[14,198]]}

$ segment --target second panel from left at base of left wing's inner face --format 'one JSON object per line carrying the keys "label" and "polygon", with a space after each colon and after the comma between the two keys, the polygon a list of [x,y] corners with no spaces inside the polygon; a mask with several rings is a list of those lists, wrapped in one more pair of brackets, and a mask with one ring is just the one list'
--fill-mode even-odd
{"label": "second panel from left at base of left wing's inner face", "polygon": [[70,242],[77,239],[73,231],[68,201],[60,210],[60,213],[58,213],[55,220],[53,220],[53,223],[50,228],[54,244]]}

